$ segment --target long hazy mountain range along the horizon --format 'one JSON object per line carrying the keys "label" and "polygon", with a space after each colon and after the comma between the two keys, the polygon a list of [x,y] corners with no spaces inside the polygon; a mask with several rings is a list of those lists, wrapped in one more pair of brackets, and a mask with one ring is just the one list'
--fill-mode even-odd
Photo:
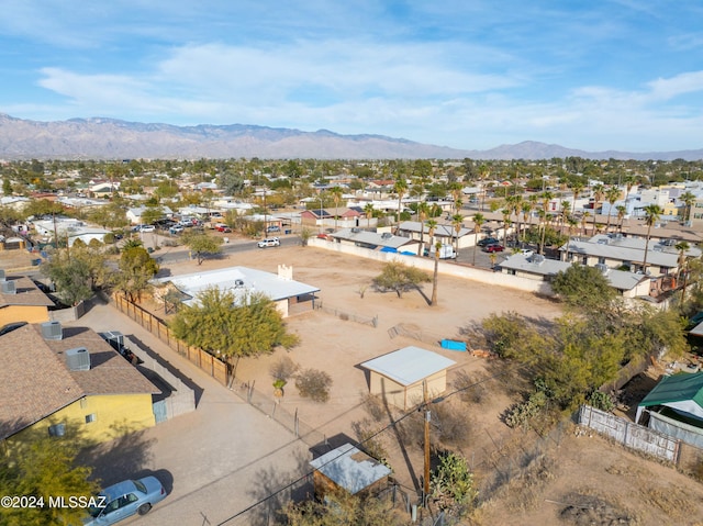
{"label": "long hazy mountain range along the horizon", "polygon": [[524,142],[488,150],[456,149],[383,135],[341,135],[248,124],[174,126],[114,119],[40,122],[0,113],[0,159],[703,159],[703,149],[629,154],[590,153]]}

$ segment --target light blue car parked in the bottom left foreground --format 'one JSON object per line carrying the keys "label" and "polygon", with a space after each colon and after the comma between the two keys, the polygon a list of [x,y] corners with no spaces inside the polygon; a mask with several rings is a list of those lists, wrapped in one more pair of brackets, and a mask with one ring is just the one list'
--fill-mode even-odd
{"label": "light blue car parked in the bottom left foreground", "polygon": [[105,488],[99,497],[103,502],[100,507],[90,507],[90,516],[85,526],[105,526],[115,524],[136,513],[144,515],[156,504],[166,499],[166,490],[156,477],[137,480],[125,480]]}

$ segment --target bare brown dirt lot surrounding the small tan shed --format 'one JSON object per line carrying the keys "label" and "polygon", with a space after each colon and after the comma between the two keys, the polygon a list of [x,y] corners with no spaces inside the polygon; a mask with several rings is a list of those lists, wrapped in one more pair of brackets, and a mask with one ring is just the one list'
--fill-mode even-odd
{"label": "bare brown dirt lot surrounding the small tan shed", "polygon": [[[325,307],[378,317],[378,326],[372,327],[320,311],[297,314],[288,324],[300,335],[300,346],[238,363],[238,381],[254,382],[257,390],[270,394],[269,368],[282,356],[301,368],[326,371],[333,379],[327,403],[301,399],[289,384],[280,405],[291,413],[298,411],[301,421],[319,436],[344,434],[357,439],[361,422],[367,428],[383,427],[388,415],[375,421],[362,403],[368,384],[358,366],[376,356],[417,345],[457,362],[449,371],[450,391],[459,385],[462,374],[472,381],[483,379],[468,392],[469,396],[447,399],[447,404],[465,411],[466,436],[457,439],[456,447],[470,459],[483,497],[488,497],[478,517],[480,524],[703,524],[700,483],[572,426],[542,440],[532,432],[509,429],[500,415],[520,400],[520,382],[512,374],[503,374],[507,366],[433,345],[440,338],[464,339],[462,329],[492,312],[516,311],[548,321],[560,314],[557,303],[440,276],[439,304],[429,307],[425,296],[432,292],[431,284],[424,287],[423,293],[409,292],[401,299],[393,293],[379,293],[369,283],[380,272],[380,264],[311,247],[249,250],[205,261],[200,267],[186,261],[165,270],[179,275],[247,266],[276,272],[279,264],[293,267],[293,279],[319,287]],[[420,334],[423,340],[391,337],[391,329],[398,326]],[[469,339],[469,345],[477,347],[480,343]],[[422,450],[413,437],[412,430],[389,429],[378,440],[398,480],[409,491],[422,473]],[[532,468],[524,470],[527,458]]]}

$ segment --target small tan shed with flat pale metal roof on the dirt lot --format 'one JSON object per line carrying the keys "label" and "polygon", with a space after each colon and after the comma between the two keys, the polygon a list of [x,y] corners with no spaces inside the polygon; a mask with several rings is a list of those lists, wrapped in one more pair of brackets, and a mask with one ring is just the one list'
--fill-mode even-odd
{"label": "small tan shed with flat pale metal roof on the dirt lot", "polygon": [[425,383],[431,396],[444,393],[447,369],[455,363],[431,350],[410,346],[365,361],[361,367],[370,371],[371,394],[380,394],[397,407],[408,410],[422,402]]}

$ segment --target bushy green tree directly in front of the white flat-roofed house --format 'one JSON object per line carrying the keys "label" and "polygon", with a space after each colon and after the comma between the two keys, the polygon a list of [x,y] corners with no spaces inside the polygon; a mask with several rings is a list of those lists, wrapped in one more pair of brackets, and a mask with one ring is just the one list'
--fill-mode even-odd
{"label": "bushy green tree directly in front of the white flat-roofed house", "polygon": [[189,345],[227,359],[271,352],[278,345],[293,347],[298,338],[286,332],[276,304],[260,293],[236,296],[211,287],[183,305],[174,320],[174,335]]}

